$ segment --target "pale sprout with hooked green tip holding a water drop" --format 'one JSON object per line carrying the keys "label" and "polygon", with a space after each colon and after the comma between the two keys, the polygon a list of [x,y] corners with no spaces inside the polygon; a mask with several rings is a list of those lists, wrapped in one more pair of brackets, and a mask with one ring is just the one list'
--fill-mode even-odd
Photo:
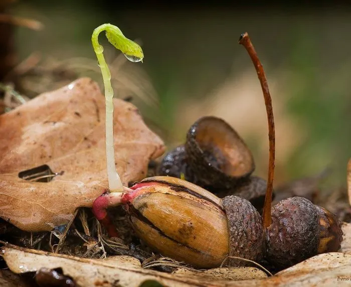
{"label": "pale sprout with hooked green tip holding a water drop", "polygon": [[116,49],[120,50],[124,56],[131,62],[142,62],[144,54],[141,47],[135,42],[127,39],[118,27],[111,24],[103,24],[96,28],[91,36],[94,52],[96,54],[99,67],[101,69],[102,79],[105,88],[106,102],[106,161],[107,176],[110,192],[122,192],[123,184],[116,171],[113,145],[113,89],[111,86],[111,73],[106,64],[103,47],[99,44],[99,34],[105,31],[106,38]]}

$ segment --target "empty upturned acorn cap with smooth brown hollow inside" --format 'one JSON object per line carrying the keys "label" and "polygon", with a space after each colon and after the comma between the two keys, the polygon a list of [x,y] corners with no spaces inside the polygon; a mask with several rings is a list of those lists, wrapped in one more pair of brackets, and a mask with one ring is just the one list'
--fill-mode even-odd
{"label": "empty upturned acorn cap with smooth brown hollow inside", "polygon": [[202,186],[230,188],[255,169],[251,151],[224,120],[203,117],[189,129],[185,148]]}

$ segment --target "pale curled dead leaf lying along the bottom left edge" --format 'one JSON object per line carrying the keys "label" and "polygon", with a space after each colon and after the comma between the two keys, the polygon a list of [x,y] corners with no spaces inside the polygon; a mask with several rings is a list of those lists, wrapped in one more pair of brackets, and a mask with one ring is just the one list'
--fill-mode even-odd
{"label": "pale curled dead leaf lying along the bottom left edge", "polygon": [[[79,286],[139,286],[147,280],[155,280],[165,286],[226,286],[228,281],[209,280],[201,275],[169,274],[143,269],[131,263],[134,258],[113,256],[111,259],[86,259],[41,250],[26,249],[11,244],[2,247],[1,255],[15,273],[35,272],[43,267],[61,267]],[[129,261],[130,260],[130,261]],[[126,263],[128,261],[128,263]],[[255,277],[251,277],[255,278]],[[250,280],[251,281],[251,280]],[[243,281],[241,281],[243,282]],[[238,285],[239,286],[239,285]]]}

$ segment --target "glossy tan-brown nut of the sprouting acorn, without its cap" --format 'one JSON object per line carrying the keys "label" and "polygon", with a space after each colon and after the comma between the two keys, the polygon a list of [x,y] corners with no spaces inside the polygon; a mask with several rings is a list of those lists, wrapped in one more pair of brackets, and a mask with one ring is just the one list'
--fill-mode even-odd
{"label": "glossy tan-brown nut of the sprouting acorn, without its cap", "polygon": [[132,187],[126,210],[136,234],[151,249],[198,268],[219,266],[229,254],[221,200],[172,177],[147,178]]}

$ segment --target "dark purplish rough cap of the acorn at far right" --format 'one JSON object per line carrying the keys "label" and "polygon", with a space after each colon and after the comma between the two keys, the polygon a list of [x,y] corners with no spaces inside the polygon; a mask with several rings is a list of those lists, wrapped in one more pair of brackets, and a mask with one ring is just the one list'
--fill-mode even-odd
{"label": "dark purplish rough cap of the acorn at far right", "polygon": [[267,260],[289,267],[317,254],[319,215],[316,206],[303,197],[289,197],[272,208],[267,228]]}

